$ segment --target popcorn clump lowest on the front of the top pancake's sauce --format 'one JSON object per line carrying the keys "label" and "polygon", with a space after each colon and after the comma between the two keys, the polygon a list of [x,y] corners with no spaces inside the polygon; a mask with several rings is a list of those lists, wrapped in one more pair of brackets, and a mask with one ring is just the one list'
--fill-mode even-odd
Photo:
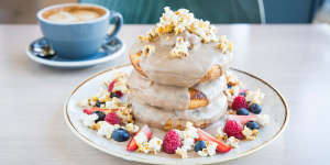
{"label": "popcorn clump lowest on the front of the top pancake's sauce", "polygon": [[175,47],[170,51],[170,56],[182,58],[188,56],[189,42],[186,42],[182,36],[176,38]]}

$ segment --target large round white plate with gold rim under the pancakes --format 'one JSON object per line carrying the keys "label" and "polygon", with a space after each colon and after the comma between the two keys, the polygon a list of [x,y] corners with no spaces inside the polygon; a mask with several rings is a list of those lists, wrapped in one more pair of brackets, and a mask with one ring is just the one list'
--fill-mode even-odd
{"label": "large round white plate with gold rim under the pancakes", "polygon": [[[263,100],[263,113],[270,114],[271,122],[267,127],[260,131],[260,135],[254,141],[246,141],[240,143],[239,148],[233,148],[226,154],[217,154],[210,157],[199,157],[197,154],[189,158],[180,158],[178,155],[169,155],[165,153],[158,153],[157,155],[144,154],[138,152],[127,152],[127,143],[119,143],[109,141],[105,138],[98,136],[91,129],[85,128],[80,121],[79,116],[82,113],[81,108],[77,106],[77,102],[86,97],[92,96],[106,79],[114,78],[117,73],[128,73],[132,70],[132,66],[124,65],[116,68],[110,68],[105,72],[98,73],[81,84],[79,84],[70,94],[64,105],[64,118],[68,128],[80,140],[87,144],[96,147],[105,153],[113,156],[118,156],[128,161],[150,163],[150,164],[211,164],[220,163],[230,160],[235,160],[249,154],[252,154],[260,148],[263,148],[285,130],[288,122],[288,107],[282,97],[282,95],[270,84],[263,79],[251,75],[249,73],[231,68],[241,81],[243,81],[249,89],[260,88],[264,94]],[[210,127],[212,128],[212,125]],[[209,129],[209,128],[208,128]],[[155,131],[155,134],[157,132]],[[162,136],[160,136],[162,138]],[[194,152],[193,152],[194,154]]]}

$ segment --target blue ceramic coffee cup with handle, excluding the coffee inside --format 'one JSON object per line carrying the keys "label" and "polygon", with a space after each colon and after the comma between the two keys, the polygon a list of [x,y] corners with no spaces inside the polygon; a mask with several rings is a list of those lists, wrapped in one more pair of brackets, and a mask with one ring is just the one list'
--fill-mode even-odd
{"label": "blue ceramic coffee cup with handle, excluding the coffee inside", "polygon": [[[56,22],[44,15],[63,8],[95,8],[102,14],[84,22]],[[44,37],[56,54],[64,58],[84,58],[96,54],[102,44],[111,42],[120,31],[123,19],[119,12],[88,3],[65,3],[47,7],[37,12],[37,20]],[[111,20],[116,20],[114,30],[108,34]]]}

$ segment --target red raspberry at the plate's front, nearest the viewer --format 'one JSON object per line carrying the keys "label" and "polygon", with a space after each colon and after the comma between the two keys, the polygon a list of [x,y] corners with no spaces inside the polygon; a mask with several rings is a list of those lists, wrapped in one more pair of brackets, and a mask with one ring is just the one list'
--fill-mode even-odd
{"label": "red raspberry at the plate's front, nearest the viewer", "polygon": [[176,131],[169,130],[163,141],[163,150],[167,154],[174,154],[175,150],[182,146],[180,138]]}

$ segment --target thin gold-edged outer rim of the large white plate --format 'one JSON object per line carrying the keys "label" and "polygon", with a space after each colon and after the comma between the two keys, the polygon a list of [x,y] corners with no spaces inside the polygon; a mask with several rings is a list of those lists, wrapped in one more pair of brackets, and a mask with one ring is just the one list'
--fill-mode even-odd
{"label": "thin gold-edged outer rim of the large white plate", "polygon": [[[70,119],[69,119],[69,116],[67,113],[67,106],[68,106],[68,101],[70,99],[70,97],[82,86],[85,85],[87,81],[89,81],[90,79],[99,76],[99,75],[102,75],[105,73],[108,73],[108,72],[111,72],[111,70],[114,70],[114,69],[121,69],[123,67],[129,67],[131,66],[130,64],[125,64],[125,65],[122,65],[122,66],[117,66],[117,67],[113,67],[113,68],[109,68],[109,69],[106,69],[106,70],[102,70],[102,72],[99,72],[92,76],[90,76],[89,78],[87,78],[86,80],[84,80],[82,82],[80,82],[72,92],[70,92],[70,96],[66,99],[65,101],[65,105],[64,105],[64,118],[65,118],[65,121],[66,121],[66,124],[69,127],[70,131],[74,132],[81,141],[88,143],[89,145],[98,148],[99,151],[101,152],[105,152],[105,153],[108,153],[110,155],[113,155],[113,156],[117,156],[117,157],[121,157],[123,160],[127,160],[127,161],[134,161],[134,162],[140,162],[140,163],[148,163],[148,164],[168,164],[168,162],[150,162],[150,160],[146,160],[146,158],[142,158],[142,157],[135,157],[135,156],[132,156],[130,154],[122,154],[122,153],[117,153],[117,152],[109,152],[107,151],[105,147],[102,147],[101,145],[98,145],[96,144],[95,142],[90,141],[88,138],[86,138],[85,135],[82,135],[81,133],[78,132],[78,130],[74,127],[74,124],[72,123]],[[235,70],[235,72],[239,72],[239,73],[242,73],[244,75],[248,75],[254,79],[257,79],[260,80],[261,82],[263,82],[264,85],[266,85],[267,87],[270,87],[272,90],[274,90],[276,92],[276,95],[280,98],[280,101],[283,103],[283,106],[285,107],[285,118],[284,118],[284,121],[282,123],[282,127],[279,129],[279,131],[276,132],[275,135],[273,135],[270,140],[263,142],[262,144],[257,145],[257,146],[254,146],[245,152],[242,152],[240,154],[237,154],[234,156],[230,156],[230,157],[227,157],[227,158],[222,158],[222,160],[216,160],[213,162],[206,162],[206,164],[212,164],[212,163],[221,163],[221,162],[227,162],[227,161],[231,161],[231,160],[237,160],[237,158],[240,158],[240,157],[243,157],[243,156],[246,156],[246,155],[250,155],[261,148],[263,148],[264,146],[266,146],[267,144],[270,144],[271,142],[273,142],[274,140],[276,140],[279,134],[285,130],[287,123],[288,123],[288,117],[289,117],[289,110],[288,110],[288,106],[284,99],[284,97],[280,95],[280,92],[275,89],[272,85],[270,85],[268,82],[266,82],[265,80],[252,75],[252,74],[249,74],[246,72],[243,72],[243,70],[240,70],[240,69],[237,69],[237,68],[231,68],[232,70]],[[180,164],[180,162],[176,162],[174,164]]]}

